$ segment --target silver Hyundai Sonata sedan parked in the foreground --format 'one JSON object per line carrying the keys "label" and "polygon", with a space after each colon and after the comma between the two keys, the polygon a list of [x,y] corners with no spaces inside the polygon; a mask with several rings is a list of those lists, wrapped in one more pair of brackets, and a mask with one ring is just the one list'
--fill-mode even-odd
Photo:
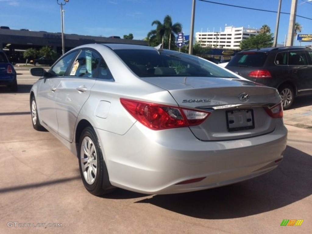
{"label": "silver Hyundai Sonata sedan parked in the foreground", "polygon": [[30,92],[34,129],[79,159],[85,188],[183,193],[254,178],[283,158],[277,90],[197,56],[89,44],[62,56]]}

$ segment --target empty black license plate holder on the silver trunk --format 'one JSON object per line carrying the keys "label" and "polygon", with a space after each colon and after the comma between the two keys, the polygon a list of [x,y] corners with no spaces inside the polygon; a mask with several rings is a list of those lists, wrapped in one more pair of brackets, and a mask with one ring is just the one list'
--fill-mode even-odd
{"label": "empty black license plate holder on the silver trunk", "polygon": [[241,131],[255,128],[255,121],[252,109],[227,110],[227,131]]}

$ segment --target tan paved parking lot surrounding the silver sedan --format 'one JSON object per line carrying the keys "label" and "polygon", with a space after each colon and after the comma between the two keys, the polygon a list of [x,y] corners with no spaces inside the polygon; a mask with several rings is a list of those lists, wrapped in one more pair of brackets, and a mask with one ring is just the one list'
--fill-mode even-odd
{"label": "tan paved parking lot surrounding the silver sedan", "polygon": [[[312,99],[285,111],[285,158],[266,175],[194,193],[151,196],[118,189],[95,197],[80,180],[77,158],[49,132],[32,128],[28,92],[34,80],[19,74],[18,93],[0,87],[0,233],[312,230]],[[304,222],[280,226],[285,219]]]}

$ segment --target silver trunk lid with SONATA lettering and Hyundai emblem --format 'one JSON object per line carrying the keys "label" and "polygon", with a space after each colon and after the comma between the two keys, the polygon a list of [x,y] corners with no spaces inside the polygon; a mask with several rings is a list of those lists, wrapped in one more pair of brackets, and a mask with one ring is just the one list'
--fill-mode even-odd
{"label": "silver trunk lid with SONATA lettering and Hyundai emblem", "polygon": [[200,125],[190,126],[202,141],[232,140],[272,132],[276,119],[266,108],[280,102],[273,88],[240,79],[215,77],[150,77],[169,91],[181,108],[210,112]]}

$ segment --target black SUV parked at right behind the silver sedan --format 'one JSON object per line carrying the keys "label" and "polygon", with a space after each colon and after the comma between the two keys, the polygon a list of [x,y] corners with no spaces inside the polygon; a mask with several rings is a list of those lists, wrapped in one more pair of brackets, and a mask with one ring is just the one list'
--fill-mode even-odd
{"label": "black SUV parked at right behind the silver sedan", "polygon": [[226,68],[254,82],[278,89],[287,110],[296,96],[312,95],[312,49],[304,46],[245,50]]}

